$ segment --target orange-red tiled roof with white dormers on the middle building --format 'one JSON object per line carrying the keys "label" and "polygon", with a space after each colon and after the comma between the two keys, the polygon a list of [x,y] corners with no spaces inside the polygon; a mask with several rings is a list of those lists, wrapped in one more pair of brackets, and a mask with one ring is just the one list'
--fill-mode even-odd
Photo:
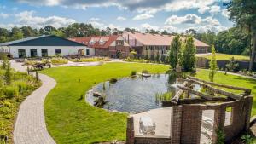
{"label": "orange-red tiled roof with white dormers on the middle building", "polygon": [[[69,40],[83,43],[84,45],[91,47],[91,48],[108,48],[113,41],[115,41],[118,37],[121,37],[119,35],[112,35],[112,36],[96,36],[96,37],[73,37],[69,38]],[[100,40],[103,43],[100,43]],[[94,41],[94,44],[91,44],[90,41]]]}

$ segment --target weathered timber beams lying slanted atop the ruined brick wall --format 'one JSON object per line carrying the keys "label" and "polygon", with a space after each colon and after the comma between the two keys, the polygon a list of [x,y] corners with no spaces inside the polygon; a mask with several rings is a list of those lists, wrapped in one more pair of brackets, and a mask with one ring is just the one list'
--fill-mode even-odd
{"label": "weathered timber beams lying slanted atop the ruined brick wall", "polygon": [[[241,88],[241,87],[235,87],[225,84],[217,84],[213,82],[207,82],[205,80],[201,80],[198,78],[190,77],[186,79],[182,79],[183,84],[177,85],[177,88],[179,89],[172,97],[172,100],[170,101],[172,106],[175,105],[181,105],[181,104],[193,104],[193,103],[200,103],[200,102],[207,102],[207,101],[238,101],[242,100],[244,96],[251,95],[251,89]],[[197,91],[193,89],[193,84],[198,84],[202,88],[207,89],[207,93],[203,93],[201,91]],[[218,88],[224,88],[224,89],[233,89],[233,90],[241,90],[243,93],[241,94],[235,94],[230,91],[226,91],[224,89],[218,89]],[[199,96],[199,98],[188,98],[189,96],[185,96],[185,98],[180,99],[181,95],[186,93],[194,94]],[[223,96],[217,96],[217,95],[223,95]]]}

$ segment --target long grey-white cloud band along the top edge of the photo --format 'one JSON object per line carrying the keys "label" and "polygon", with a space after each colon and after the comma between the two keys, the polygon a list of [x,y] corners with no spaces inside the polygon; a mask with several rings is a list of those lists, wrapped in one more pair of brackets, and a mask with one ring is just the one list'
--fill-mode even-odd
{"label": "long grey-white cloud band along the top edge of the photo", "polygon": [[[217,0],[12,0],[20,3],[29,3],[45,6],[62,6],[86,9],[88,7],[116,6],[121,9],[137,10],[139,13],[155,14],[159,11],[178,11],[181,9],[198,9],[200,13]],[[227,1],[227,0],[224,0]]]}

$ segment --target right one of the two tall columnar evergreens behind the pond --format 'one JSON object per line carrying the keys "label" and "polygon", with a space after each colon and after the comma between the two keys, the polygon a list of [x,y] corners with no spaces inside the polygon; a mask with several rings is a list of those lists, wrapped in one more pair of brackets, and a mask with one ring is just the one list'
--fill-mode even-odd
{"label": "right one of the two tall columnar evergreens behind the pond", "polygon": [[192,36],[188,36],[183,49],[183,69],[185,72],[195,71],[195,44]]}

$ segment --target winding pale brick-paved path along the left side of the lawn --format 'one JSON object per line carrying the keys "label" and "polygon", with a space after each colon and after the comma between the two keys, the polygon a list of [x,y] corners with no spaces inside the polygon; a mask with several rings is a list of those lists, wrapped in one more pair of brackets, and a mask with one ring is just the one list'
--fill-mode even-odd
{"label": "winding pale brick-paved path along the left side of the lawn", "polygon": [[[12,62],[17,71],[26,71],[19,63]],[[44,120],[44,98],[55,87],[55,79],[39,74],[42,86],[26,97],[20,105],[15,122],[15,144],[55,144],[50,137]]]}

